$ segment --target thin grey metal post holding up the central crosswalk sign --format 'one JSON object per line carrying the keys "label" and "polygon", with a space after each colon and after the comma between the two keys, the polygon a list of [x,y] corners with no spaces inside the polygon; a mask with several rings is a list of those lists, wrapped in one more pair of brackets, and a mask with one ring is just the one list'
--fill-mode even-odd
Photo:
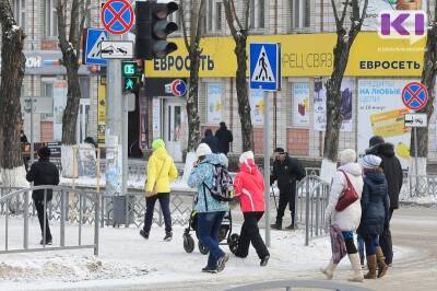
{"label": "thin grey metal post holding up the central crosswalk sign", "polygon": [[[259,89],[261,90],[261,89]],[[264,93],[264,197],[265,197],[265,245],[270,247],[270,102]]]}

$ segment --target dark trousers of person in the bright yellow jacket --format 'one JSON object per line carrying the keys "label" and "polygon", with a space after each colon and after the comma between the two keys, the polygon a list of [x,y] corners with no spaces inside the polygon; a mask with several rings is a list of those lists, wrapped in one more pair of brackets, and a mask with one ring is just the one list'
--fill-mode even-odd
{"label": "dark trousers of person in the bright yellow jacket", "polygon": [[170,194],[169,193],[158,193],[155,196],[145,198],[146,209],[144,214],[144,228],[146,233],[150,233],[153,222],[153,212],[155,211],[155,202],[160,200],[161,210],[164,216],[165,231],[172,231],[172,212],[170,212]]}

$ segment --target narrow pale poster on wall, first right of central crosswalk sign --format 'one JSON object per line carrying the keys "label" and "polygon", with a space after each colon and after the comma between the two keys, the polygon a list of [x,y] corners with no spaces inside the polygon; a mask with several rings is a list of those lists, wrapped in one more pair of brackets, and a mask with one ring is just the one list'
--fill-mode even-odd
{"label": "narrow pale poster on wall, first right of central crosswalk sign", "polygon": [[309,125],[309,83],[293,83],[293,125]]}

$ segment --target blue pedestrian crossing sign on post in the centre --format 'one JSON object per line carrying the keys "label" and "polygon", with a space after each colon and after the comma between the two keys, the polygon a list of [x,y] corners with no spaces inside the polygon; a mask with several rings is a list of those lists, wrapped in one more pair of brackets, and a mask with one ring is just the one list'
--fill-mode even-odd
{"label": "blue pedestrian crossing sign on post in the centre", "polygon": [[250,89],[277,91],[281,88],[279,44],[250,44]]}

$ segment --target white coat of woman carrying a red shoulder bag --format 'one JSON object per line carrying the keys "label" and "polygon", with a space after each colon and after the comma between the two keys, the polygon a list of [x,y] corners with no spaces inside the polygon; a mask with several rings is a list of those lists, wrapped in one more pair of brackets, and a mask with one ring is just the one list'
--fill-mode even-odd
{"label": "white coat of woman carrying a red shoulder bag", "polygon": [[331,225],[336,224],[341,231],[355,231],[359,225],[359,220],[362,217],[359,199],[342,211],[335,210],[336,202],[347,186],[346,177],[344,176],[343,172],[340,172],[340,170],[346,173],[352,186],[358,194],[358,197],[362,197],[363,177],[361,165],[358,163],[347,163],[340,166],[339,171],[332,177],[331,193],[329,195],[329,202],[324,212],[324,221],[331,220]]}

